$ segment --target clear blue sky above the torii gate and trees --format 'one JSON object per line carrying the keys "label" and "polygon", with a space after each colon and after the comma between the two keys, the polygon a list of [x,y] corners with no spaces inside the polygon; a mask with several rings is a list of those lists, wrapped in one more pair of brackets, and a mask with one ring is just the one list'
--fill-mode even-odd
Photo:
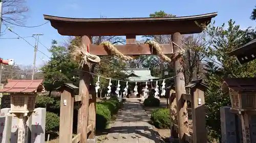
{"label": "clear blue sky above the torii gate and trees", "polygon": [[[128,6],[130,4],[130,7]],[[26,5],[29,12],[26,13],[27,20],[25,25],[33,26],[44,22],[43,14],[62,16],[62,17],[76,17],[76,18],[99,18],[104,16],[107,18],[122,18],[122,17],[148,17],[150,13],[163,10],[166,13],[174,14],[176,16],[189,16],[204,13],[218,12],[218,16],[213,20],[216,25],[221,25],[227,22],[230,18],[240,24],[241,28],[248,26],[255,27],[256,21],[249,19],[254,6],[255,0],[215,0],[215,1],[88,1],[88,0],[45,0],[35,1],[27,0]],[[2,31],[5,30],[5,25],[2,24]],[[39,41],[46,47],[51,46],[52,39],[63,43],[65,36],[61,36],[57,31],[47,23],[40,27],[26,28],[19,26],[11,26],[12,30],[22,37],[31,36],[32,34],[41,33]],[[11,32],[6,32],[6,35],[1,38],[17,37]],[[34,38],[26,38],[26,40],[34,45]],[[16,64],[32,65],[33,63],[33,47],[22,39],[0,39],[0,57],[4,59],[14,59]],[[38,45],[38,49],[51,54],[47,49]],[[39,66],[44,61],[48,60],[47,56],[37,52],[36,64]]]}

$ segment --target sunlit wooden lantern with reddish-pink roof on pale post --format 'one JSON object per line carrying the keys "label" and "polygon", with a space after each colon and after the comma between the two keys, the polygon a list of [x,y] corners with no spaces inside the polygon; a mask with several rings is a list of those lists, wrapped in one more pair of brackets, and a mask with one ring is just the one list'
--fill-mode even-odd
{"label": "sunlit wooden lantern with reddish-pink roof on pale post", "polygon": [[34,111],[37,93],[44,92],[42,80],[8,80],[0,93],[11,96],[11,110],[9,115],[18,118],[18,143],[25,143],[27,132],[26,122]]}

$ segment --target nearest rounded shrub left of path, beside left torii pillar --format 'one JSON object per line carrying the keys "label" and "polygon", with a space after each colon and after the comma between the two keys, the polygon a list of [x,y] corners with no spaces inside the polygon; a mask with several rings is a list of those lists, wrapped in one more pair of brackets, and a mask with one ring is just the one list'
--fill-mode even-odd
{"label": "nearest rounded shrub left of path, beside left torii pillar", "polygon": [[111,112],[108,106],[98,103],[96,104],[96,129],[104,129],[111,120]]}

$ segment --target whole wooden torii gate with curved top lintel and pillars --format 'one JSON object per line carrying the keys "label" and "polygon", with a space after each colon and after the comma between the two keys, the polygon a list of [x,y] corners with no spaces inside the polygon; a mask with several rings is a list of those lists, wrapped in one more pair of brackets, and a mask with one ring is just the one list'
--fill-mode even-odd
{"label": "whole wooden torii gate with curved top lintel and pillars", "polygon": [[[150,55],[152,51],[150,45],[137,45],[135,43],[138,35],[172,35],[171,44],[161,44],[164,54],[173,54],[180,51],[182,46],[182,34],[201,33],[199,24],[208,25],[211,18],[217,13],[208,13],[195,16],[184,17],[164,17],[164,18],[66,18],[44,15],[46,20],[57,29],[60,35],[82,36],[82,44],[90,45],[89,52],[95,55],[109,55],[108,49],[103,45],[91,44],[91,36],[126,36],[126,45],[115,45],[124,55]],[[174,42],[175,44],[173,45]],[[179,140],[185,142],[184,134],[188,132],[186,103],[182,100],[185,94],[185,80],[183,68],[178,59],[174,61],[176,83],[176,100],[179,125]],[[77,132],[81,133],[81,142],[87,142],[87,127],[93,125],[93,131],[89,139],[94,139],[95,119],[96,119],[96,96],[89,97],[89,84],[91,75],[90,65],[84,65],[80,76],[79,95],[82,96],[82,105],[78,111]],[[90,110],[90,113],[89,113]]]}

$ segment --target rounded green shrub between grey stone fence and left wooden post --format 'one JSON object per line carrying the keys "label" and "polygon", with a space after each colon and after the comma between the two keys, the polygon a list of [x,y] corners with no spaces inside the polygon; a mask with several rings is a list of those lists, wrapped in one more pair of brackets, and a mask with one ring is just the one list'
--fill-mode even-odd
{"label": "rounded green shrub between grey stone fence and left wooden post", "polygon": [[59,130],[59,117],[53,112],[46,112],[46,132]]}

